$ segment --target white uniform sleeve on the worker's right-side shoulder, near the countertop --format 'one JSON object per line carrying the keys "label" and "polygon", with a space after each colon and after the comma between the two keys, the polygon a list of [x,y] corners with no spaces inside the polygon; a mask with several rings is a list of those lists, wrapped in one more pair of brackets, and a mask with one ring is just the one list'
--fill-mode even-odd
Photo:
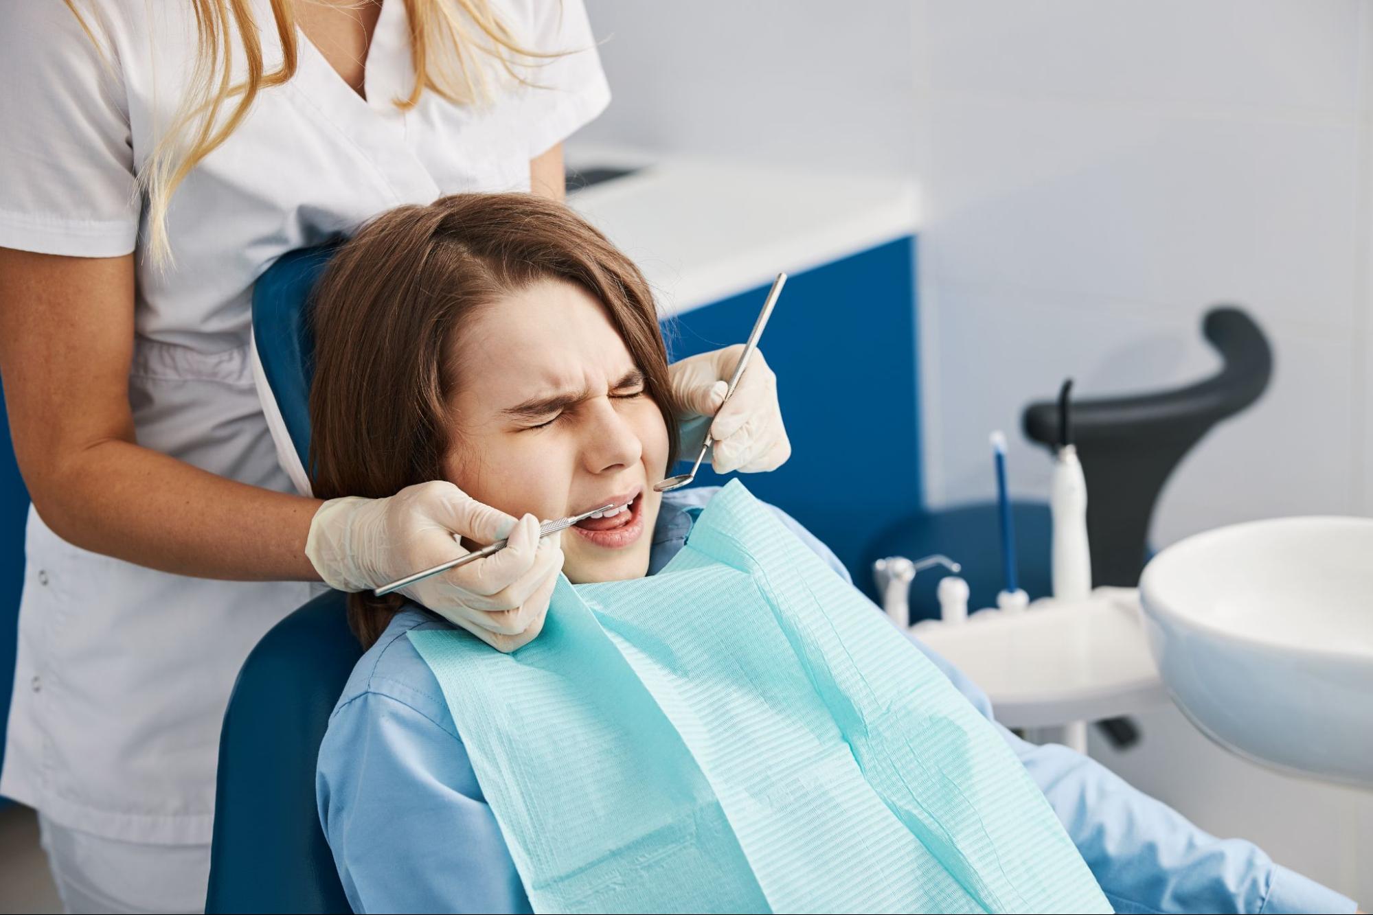
{"label": "white uniform sleeve on the worker's right-side shoulder, near the countertop", "polygon": [[530,158],[557,145],[610,104],[610,85],[596,52],[582,0],[514,0],[515,37],[530,51],[566,52],[524,71],[520,123]]}

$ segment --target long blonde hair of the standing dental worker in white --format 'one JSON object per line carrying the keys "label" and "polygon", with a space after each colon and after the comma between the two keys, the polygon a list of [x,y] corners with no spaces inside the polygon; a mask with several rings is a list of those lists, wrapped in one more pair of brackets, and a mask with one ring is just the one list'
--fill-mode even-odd
{"label": "long blonde hair of the standing dental worker in white", "polygon": [[[247,117],[262,89],[295,75],[299,41],[295,30],[297,0],[270,0],[272,18],[281,41],[281,66],[266,71],[262,40],[253,15],[253,0],[188,1],[195,14],[195,71],[177,114],[158,137],[152,154],[139,169],[139,188],[148,199],[148,248],[154,262],[170,261],[166,233],[168,206],[185,176],[214,152]],[[309,0],[302,0],[309,1]],[[391,0],[393,3],[397,0]],[[77,0],[65,0],[86,37],[100,48]],[[454,104],[490,100],[493,86],[485,62],[498,64],[516,82],[531,85],[515,64],[529,66],[567,51],[538,52],[519,45],[492,10],[490,0],[404,0],[411,26],[411,62],[415,85],[395,106],[413,108],[426,89]],[[475,29],[472,27],[475,26]],[[232,82],[233,41],[242,44],[247,75]],[[103,51],[102,51],[103,54]],[[485,59],[483,59],[485,58]]]}

